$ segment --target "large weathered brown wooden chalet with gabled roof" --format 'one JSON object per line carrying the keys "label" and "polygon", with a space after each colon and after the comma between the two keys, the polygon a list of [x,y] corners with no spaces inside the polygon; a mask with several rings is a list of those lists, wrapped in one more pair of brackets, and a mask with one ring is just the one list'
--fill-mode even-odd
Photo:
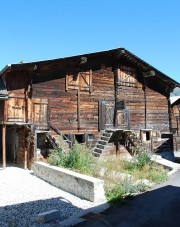
{"label": "large weathered brown wooden chalet with gabled roof", "polygon": [[0,72],[3,167],[30,168],[58,142],[76,139],[95,156],[173,148],[170,93],[179,83],[118,48],[19,63]]}

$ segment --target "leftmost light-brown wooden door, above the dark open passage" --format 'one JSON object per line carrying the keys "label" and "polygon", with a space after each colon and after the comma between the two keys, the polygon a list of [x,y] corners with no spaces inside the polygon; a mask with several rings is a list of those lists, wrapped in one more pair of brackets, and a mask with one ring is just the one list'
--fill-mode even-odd
{"label": "leftmost light-brown wooden door, above the dark open passage", "polygon": [[26,122],[25,119],[25,99],[12,97],[7,100],[6,107],[7,122]]}

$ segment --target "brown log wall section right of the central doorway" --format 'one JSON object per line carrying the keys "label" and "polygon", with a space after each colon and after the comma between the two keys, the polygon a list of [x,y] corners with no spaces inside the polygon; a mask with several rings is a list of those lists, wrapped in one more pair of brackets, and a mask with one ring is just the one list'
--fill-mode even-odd
{"label": "brown log wall section right of the central doorway", "polygon": [[[118,99],[126,101],[130,111],[131,129],[154,129],[169,131],[168,100],[160,93],[146,88],[146,105],[142,84],[135,87],[118,87]],[[146,108],[146,119],[145,119]],[[146,122],[145,122],[146,121]]]}

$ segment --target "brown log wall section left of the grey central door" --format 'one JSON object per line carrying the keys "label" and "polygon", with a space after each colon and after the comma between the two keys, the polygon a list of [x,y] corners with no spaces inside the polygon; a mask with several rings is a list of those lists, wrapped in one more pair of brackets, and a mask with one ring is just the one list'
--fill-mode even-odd
{"label": "brown log wall section left of the grey central door", "polygon": [[65,90],[65,77],[60,75],[59,79],[33,84],[33,97],[49,99],[50,120],[64,134],[98,131],[98,102],[114,99],[112,68],[96,70],[92,74],[92,92],[80,91],[80,130],[77,90]]}

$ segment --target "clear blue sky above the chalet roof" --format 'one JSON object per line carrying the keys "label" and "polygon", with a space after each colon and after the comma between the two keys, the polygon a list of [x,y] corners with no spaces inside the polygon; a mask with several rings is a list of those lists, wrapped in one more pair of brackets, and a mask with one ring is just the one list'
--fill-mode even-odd
{"label": "clear blue sky above the chalet roof", "polygon": [[0,0],[0,69],[124,47],[180,82],[179,0]]}

